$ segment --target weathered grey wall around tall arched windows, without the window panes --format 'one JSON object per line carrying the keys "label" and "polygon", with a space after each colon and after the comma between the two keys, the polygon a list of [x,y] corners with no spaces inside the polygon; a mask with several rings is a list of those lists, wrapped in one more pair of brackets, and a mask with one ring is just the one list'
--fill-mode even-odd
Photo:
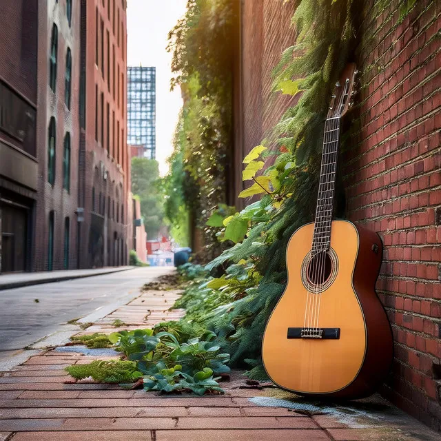
{"label": "weathered grey wall around tall arched windows, without the window panes", "polygon": [[[78,145],[79,145],[79,35],[80,7],[72,2],[72,25],[66,17],[66,1],[39,2],[38,39],[38,94],[37,94],[37,160],[39,182],[35,225],[32,232],[34,254],[32,271],[48,269],[49,216],[54,211],[54,260],[53,269],[63,269],[64,225],[70,219],[69,269],[75,269],[76,253],[76,207],[78,195]],[[58,27],[57,85],[55,92],[49,87],[49,54],[52,25]],[[65,105],[66,52],[72,53],[72,88],[70,110]],[[54,185],[48,183],[48,127],[50,118],[56,121],[56,165]],[[63,149],[66,132],[70,133],[70,192],[63,189]]]}

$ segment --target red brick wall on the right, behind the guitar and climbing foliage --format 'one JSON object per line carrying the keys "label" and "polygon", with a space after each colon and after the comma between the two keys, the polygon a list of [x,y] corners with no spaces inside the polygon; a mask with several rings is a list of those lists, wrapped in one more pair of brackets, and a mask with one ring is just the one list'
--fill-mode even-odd
{"label": "red brick wall on the right, behind the guitar and climbing foliage", "polygon": [[[241,2],[235,149],[242,156],[293,104],[271,92],[271,70],[296,35],[292,2],[283,3]],[[384,243],[376,288],[391,321],[395,361],[381,392],[440,430],[441,3],[417,1],[400,23],[404,3],[366,0],[360,8],[354,57],[362,91],[345,124],[361,128],[340,155],[341,173],[347,218]],[[240,191],[240,176],[236,183]]]}

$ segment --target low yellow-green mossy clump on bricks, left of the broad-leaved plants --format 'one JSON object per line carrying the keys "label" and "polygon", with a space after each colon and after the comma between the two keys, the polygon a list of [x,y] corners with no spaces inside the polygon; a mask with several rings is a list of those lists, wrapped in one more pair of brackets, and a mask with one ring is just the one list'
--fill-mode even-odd
{"label": "low yellow-green mossy clump on bricks, left of the broad-leaved plants", "polygon": [[104,383],[125,383],[138,380],[143,374],[136,369],[136,363],[126,360],[95,360],[88,365],[73,365],[65,368],[76,380],[92,377]]}

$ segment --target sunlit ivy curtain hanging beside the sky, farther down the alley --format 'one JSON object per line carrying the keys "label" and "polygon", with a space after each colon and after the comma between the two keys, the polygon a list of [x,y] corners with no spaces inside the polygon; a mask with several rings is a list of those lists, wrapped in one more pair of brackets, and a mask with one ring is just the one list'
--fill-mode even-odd
{"label": "sunlit ivy curtain hanging beside the sky, farther down the alley", "polygon": [[166,179],[166,212],[176,230],[183,230],[184,212],[205,230],[208,256],[221,247],[205,223],[212,208],[227,198],[234,19],[231,0],[189,0],[185,16],[169,34],[172,88],[181,87],[184,107]]}

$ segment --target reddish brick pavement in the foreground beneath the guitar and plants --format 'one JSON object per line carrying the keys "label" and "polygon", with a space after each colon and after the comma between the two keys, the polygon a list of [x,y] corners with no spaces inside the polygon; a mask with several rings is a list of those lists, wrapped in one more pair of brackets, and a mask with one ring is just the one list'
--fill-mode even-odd
{"label": "reddish brick pavement in the foreground beneath the guitar and plants", "polygon": [[[179,318],[178,291],[147,291],[83,331],[110,332]],[[0,441],[410,441],[438,440],[381,398],[346,406],[311,402],[240,373],[225,395],[158,396],[117,385],[74,382],[64,371],[103,356],[48,349],[0,378]]]}

